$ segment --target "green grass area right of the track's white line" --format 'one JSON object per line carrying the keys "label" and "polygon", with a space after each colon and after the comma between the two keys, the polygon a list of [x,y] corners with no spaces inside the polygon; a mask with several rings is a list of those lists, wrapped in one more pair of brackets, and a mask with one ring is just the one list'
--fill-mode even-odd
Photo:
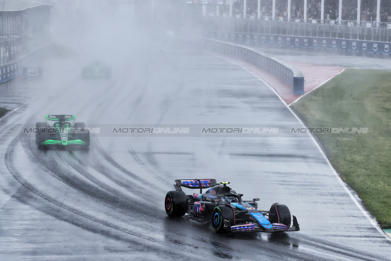
{"label": "green grass area right of the track's white line", "polygon": [[293,105],[310,127],[368,127],[317,134],[342,179],[391,229],[391,72],[348,69]]}

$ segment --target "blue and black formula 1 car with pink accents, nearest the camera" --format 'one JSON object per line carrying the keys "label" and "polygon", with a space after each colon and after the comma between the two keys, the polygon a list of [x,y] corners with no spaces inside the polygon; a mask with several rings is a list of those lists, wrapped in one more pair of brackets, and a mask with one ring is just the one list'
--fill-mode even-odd
{"label": "blue and black formula 1 car with pink accents, nearest the camera", "polygon": [[[176,190],[167,192],[165,210],[172,217],[185,216],[199,222],[212,222],[217,233],[299,231],[295,216],[291,226],[288,207],[274,203],[269,211],[259,211],[259,198],[242,200],[227,184],[215,179],[176,180]],[[200,189],[199,194],[186,195],[182,187]],[[209,188],[205,193],[202,189]]]}

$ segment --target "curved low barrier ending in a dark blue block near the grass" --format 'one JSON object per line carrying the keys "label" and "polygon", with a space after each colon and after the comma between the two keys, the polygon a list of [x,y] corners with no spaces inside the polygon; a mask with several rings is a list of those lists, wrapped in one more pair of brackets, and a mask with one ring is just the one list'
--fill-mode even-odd
{"label": "curved low barrier ending in a dark blue block near the grass", "polygon": [[291,64],[247,46],[207,38],[201,39],[205,47],[209,47],[215,52],[243,59],[276,75],[293,88],[294,95],[304,94],[303,73]]}

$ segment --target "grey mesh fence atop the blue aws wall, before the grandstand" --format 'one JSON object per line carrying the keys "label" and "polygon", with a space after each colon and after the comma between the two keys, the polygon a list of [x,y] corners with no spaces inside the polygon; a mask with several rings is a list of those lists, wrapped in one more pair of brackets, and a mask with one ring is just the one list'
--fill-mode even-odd
{"label": "grey mesh fence atop the blue aws wall, before the grandstand", "polygon": [[199,29],[204,31],[391,42],[391,23],[223,16],[203,16],[200,21]]}

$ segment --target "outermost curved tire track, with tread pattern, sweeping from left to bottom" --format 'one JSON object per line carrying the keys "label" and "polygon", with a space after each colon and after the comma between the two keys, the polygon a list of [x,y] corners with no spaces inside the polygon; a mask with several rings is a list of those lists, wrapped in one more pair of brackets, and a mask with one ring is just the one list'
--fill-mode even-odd
{"label": "outermost curved tire track, with tread pattern, sweeping from left to bottom", "polygon": [[[66,211],[69,211],[71,213],[74,213],[75,215],[78,215],[78,216],[81,216],[83,218],[86,218],[87,220],[90,220],[92,222],[99,223],[101,225],[104,225],[104,226],[109,227],[111,229],[115,229],[115,230],[120,231],[120,232],[124,232],[126,234],[131,235],[131,236],[136,236],[137,238],[142,238],[144,240],[151,241],[152,243],[157,243],[157,244],[165,246],[165,247],[172,247],[172,248],[175,248],[176,250],[185,251],[183,249],[174,247],[172,245],[167,245],[166,243],[161,242],[159,240],[156,240],[155,238],[151,238],[151,237],[146,236],[144,234],[140,234],[140,233],[131,231],[129,229],[126,229],[124,227],[120,227],[118,225],[115,225],[115,224],[110,223],[108,221],[102,220],[100,218],[96,218],[95,216],[86,214],[83,211],[80,211],[80,210],[75,209],[75,208],[73,208],[71,206],[68,206],[67,204],[64,204],[63,202],[61,202],[59,200],[56,200],[55,198],[50,197],[49,195],[44,193],[43,191],[37,189],[30,182],[28,182],[25,178],[23,178],[23,176],[16,169],[16,167],[14,165],[14,162],[13,162],[15,147],[18,144],[18,142],[21,141],[21,137],[20,136],[21,135],[18,135],[16,138],[14,138],[13,141],[11,141],[11,143],[7,147],[7,150],[5,152],[4,161],[5,161],[5,166],[7,167],[8,171],[11,173],[11,175],[14,177],[14,179],[16,179],[16,181],[18,181],[25,189],[27,189],[31,193],[37,195],[38,197],[46,200],[47,202],[50,202],[50,203],[54,204],[57,207],[60,207],[61,209],[65,209]],[[71,220],[65,220],[65,221],[68,222],[68,223],[74,223]],[[78,226],[81,227],[80,224]],[[83,227],[85,227],[85,226],[83,226]],[[95,231],[95,230],[92,230],[92,231],[95,232],[95,233],[98,232],[98,231]],[[107,232],[103,232],[103,233],[100,233],[100,234],[102,234],[103,236],[107,236]],[[116,239],[118,239],[118,238],[116,237]],[[129,241],[129,240],[127,240],[127,241]],[[136,241],[136,240],[131,240],[131,241],[135,245],[140,245],[139,241]],[[156,247],[152,247],[151,250],[153,250],[155,252],[166,252],[169,255],[178,254],[178,253],[172,253],[169,250],[162,250],[162,249],[156,248]],[[195,253],[194,252],[190,252],[189,254],[195,254]],[[197,253],[196,255],[200,256],[199,253]]]}

